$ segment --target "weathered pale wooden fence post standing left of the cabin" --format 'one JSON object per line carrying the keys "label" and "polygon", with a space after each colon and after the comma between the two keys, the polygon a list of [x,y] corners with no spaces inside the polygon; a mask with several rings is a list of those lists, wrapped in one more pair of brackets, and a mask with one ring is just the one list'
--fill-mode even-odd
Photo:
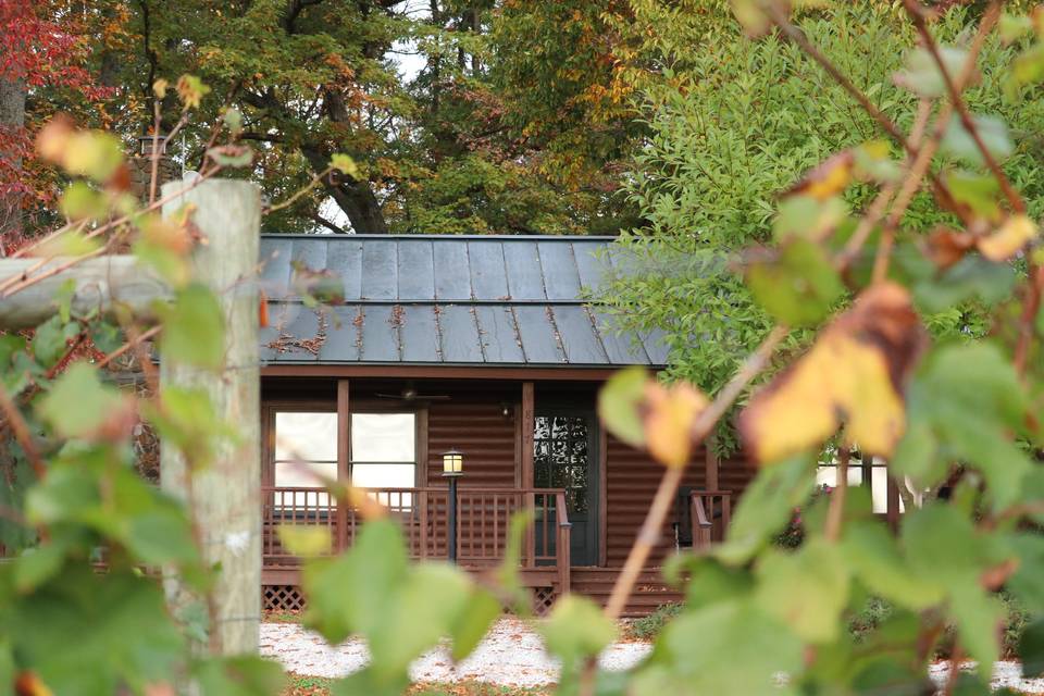
{"label": "weathered pale wooden fence post standing left of the cabin", "polygon": [[[258,368],[257,264],[261,195],[256,184],[211,179],[184,190],[187,182],[163,186],[172,214],[195,206],[192,220],[206,243],[192,257],[195,277],[216,294],[225,316],[225,363],[221,374],[161,356],[160,383],[207,391],[220,417],[235,424],[238,439],[204,471],[187,471],[173,447],[162,447],[163,488],[186,499],[198,526],[202,552],[220,563],[212,591],[216,611],[211,646],[235,655],[258,649],[261,614],[261,455]],[[194,598],[177,577],[166,581],[173,606]],[[198,600],[199,598],[195,598]]]}

